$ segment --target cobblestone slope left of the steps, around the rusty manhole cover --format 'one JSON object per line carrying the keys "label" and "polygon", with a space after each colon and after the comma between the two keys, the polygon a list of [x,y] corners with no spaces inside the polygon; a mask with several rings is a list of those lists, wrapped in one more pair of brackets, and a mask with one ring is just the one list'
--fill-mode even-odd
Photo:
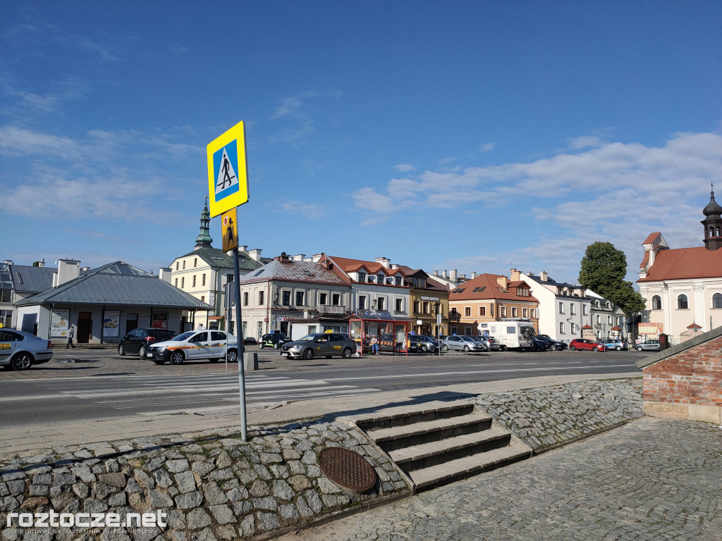
{"label": "cobblestone slope left of the steps, around the rusty manhole cover", "polygon": [[[364,434],[339,423],[258,428],[248,442],[235,433],[194,439],[139,438],[78,447],[0,464],[0,529],[14,540],[230,540],[270,537],[285,527],[339,514],[410,491],[399,470]],[[345,447],[374,467],[371,493],[349,493],[323,475],[318,454]],[[19,527],[10,513],[165,511],[168,528]]]}

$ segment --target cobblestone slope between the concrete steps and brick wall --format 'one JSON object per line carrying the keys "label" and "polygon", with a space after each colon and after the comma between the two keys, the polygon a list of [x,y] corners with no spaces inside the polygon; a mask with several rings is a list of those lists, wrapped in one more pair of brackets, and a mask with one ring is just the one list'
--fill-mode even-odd
{"label": "cobblestone slope between the concrete steps and brick wall", "polygon": [[588,381],[480,395],[479,407],[534,452],[544,452],[642,416],[640,380]]}

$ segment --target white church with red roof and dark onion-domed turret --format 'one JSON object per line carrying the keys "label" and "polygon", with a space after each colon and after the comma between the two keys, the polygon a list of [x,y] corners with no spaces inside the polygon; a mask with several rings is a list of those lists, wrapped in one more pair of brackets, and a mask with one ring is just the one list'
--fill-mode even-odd
{"label": "white church with red roof and dark onion-domed turret", "polygon": [[643,242],[637,283],[647,307],[639,333],[664,333],[671,344],[722,326],[722,206],[710,190],[703,208],[703,246],[671,249],[660,232]]}

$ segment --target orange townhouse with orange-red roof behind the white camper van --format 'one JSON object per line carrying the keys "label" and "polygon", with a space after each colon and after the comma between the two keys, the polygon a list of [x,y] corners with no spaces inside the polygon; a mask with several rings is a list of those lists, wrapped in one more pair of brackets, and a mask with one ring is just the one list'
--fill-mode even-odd
{"label": "orange townhouse with orange-red roof behind the white camper van", "polygon": [[482,323],[529,320],[539,332],[539,301],[529,284],[498,274],[481,274],[449,294],[449,334],[482,335]]}

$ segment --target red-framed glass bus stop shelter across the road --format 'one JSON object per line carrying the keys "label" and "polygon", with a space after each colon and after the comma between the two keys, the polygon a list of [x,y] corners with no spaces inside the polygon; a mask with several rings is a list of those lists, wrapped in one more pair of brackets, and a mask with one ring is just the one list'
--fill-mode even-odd
{"label": "red-framed glass bus stop shelter across the road", "polygon": [[[349,335],[356,342],[357,351],[363,355],[370,351],[370,340],[378,340],[380,348],[394,353],[409,353],[409,324],[405,317],[393,317],[388,313],[356,313],[348,317]],[[382,343],[383,338],[383,343]]]}

